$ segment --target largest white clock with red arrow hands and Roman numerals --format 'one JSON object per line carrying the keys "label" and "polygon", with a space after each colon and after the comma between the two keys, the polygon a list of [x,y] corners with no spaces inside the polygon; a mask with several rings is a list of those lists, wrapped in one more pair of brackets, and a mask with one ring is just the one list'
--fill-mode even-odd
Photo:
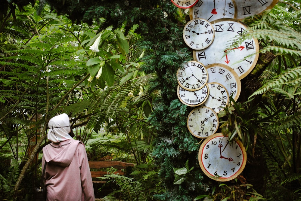
{"label": "largest white clock with red arrow hands and Roman numerals", "polygon": [[259,56],[256,38],[245,39],[232,47],[234,40],[241,37],[247,25],[235,19],[219,19],[213,23],[215,38],[213,43],[203,49],[194,50],[194,60],[204,65],[222,63],[235,70],[240,79],[246,77],[255,67]]}

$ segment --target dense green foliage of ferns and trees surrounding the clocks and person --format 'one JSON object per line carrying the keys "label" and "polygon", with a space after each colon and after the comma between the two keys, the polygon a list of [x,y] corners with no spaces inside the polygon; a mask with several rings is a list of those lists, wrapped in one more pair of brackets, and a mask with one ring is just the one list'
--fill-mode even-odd
{"label": "dense green foliage of ferns and trees surrounding the clocks and person", "polygon": [[[219,114],[219,131],[248,151],[243,174],[225,183],[200,170],[200,140],[186,126],[192,108],[175,92],[178,67],[192,59],[182,39],[187,11],[168,0],[49,0],[38,2],[37,15],[29,3],[0,9],[3,197],[15,188],[15,197],[30,199],[32,186],[21,182],[35,173],[49,118],[66,112],[92,159],[118,153],[138,164],[135,181],[108,176],[129,199],[301,200],[299,1],[244,20],[260,59],[240,98]],[[98,37],[100,51],[90,50]]]}

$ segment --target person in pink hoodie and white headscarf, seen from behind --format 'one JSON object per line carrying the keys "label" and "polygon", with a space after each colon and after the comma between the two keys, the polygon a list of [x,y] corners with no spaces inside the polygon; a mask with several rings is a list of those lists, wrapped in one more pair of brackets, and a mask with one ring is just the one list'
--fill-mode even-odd
{"label": "person in pink hoodie and white headscarf, seen from behind", "polygon": [[94,201],[85,145],[72,139],[68,115],[51,118],[48,129],[51,143],[43,148],[42,157],[42,169],[47,162],[44,176],[47,201]]}

